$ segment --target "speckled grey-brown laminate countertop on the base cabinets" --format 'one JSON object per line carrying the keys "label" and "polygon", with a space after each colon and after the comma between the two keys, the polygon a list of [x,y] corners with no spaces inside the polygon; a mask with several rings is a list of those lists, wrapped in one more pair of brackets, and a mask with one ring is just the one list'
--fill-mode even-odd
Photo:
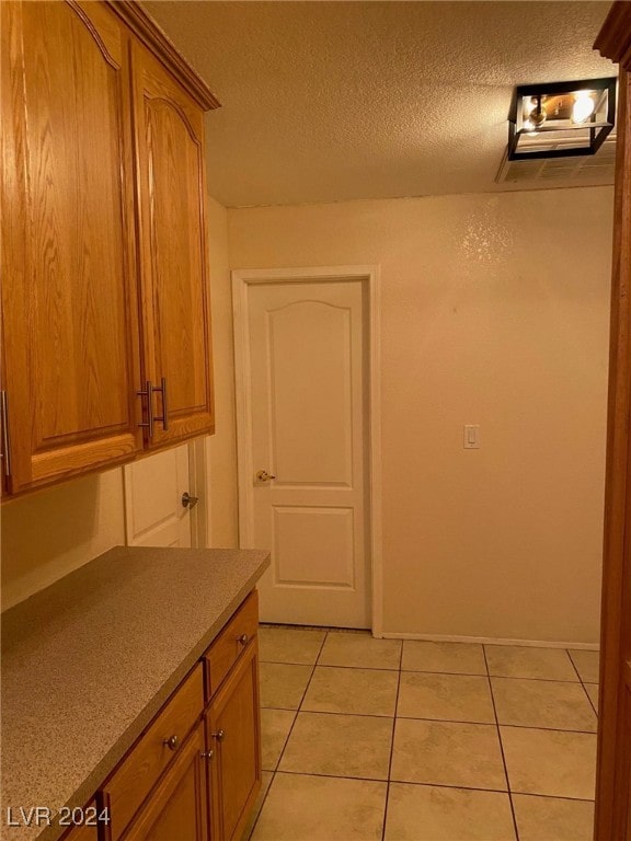
{"label": "speckled grey-brown laminate countertop on the base cabinets", "polygon": [[2,614],[8,808],[83,806],[268,565],[256,550],[116,548]]}

